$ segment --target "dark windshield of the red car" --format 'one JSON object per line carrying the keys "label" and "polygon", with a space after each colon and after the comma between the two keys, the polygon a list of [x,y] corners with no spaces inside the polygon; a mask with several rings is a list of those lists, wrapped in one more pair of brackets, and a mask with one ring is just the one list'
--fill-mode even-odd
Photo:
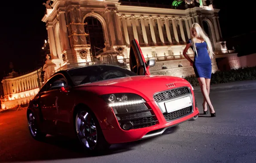
{"label": "dark windshield of the red car", "polygon": [[118,66],[96,65],[70,69],[67,71],[75,85],[103,81],[111,78],[122,78],[137,75]]}

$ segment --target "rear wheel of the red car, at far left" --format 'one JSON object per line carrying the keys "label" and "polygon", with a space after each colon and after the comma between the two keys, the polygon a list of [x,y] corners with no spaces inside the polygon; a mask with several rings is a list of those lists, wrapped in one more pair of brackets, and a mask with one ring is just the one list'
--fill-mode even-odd
{"label": "rear wheel of the red car, at far left", "polygon": [[27,124],[30,135],[36,140],[43,140],[46,133],[42,133],[37,125],[37,120],[32,112],[27,114]]}

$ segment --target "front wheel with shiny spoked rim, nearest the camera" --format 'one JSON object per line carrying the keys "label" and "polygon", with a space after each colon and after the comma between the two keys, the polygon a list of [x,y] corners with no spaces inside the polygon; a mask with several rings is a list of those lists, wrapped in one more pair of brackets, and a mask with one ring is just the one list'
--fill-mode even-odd
{"label": "front wheel with shiny spoked rim, nearest the camera", "polygon": [[87,151],[105,151],[107,143],[96,116],[87,108],[77,109],[75,113],[75,131],[80,144]]}

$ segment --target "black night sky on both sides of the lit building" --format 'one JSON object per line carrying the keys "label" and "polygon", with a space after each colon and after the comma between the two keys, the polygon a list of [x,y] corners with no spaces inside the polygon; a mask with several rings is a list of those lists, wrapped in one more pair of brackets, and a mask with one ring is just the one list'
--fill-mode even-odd
{"label": "black night sky on both sides of the lit building", "polygon": [[[27,72],[37,66],[40,51],[47,39],[44,16],[46,0],[1,1],[0,78],[4,71],[10,72],[9,62],[15,71]],[[237,1],[239,2],[239,1]],[[250,1],[249,1],[250,2]],[[256,3],[242,0],[214,0],[219,12],[219,21],[224,39],[250,31],[256,31]],[[253,40],[241,40],[253,41]]]}

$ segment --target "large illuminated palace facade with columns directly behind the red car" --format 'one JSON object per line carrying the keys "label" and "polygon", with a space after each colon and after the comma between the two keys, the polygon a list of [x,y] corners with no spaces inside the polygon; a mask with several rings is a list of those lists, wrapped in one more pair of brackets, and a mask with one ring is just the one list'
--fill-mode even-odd
{"label": "large illuminated palace facade with columns directly behind the red car", "polygon": [[[152,74],[193,75],[193,71],[187,73],[189,63],[182,55],[193,23],[204,28],[215,54],[232,53],[222,41],[218,12],[206,0],[173,0],[171,5],[128,0],[53,0],[46,5],[42,19],[52,58],[43,67],[45,80],[68,67],[107,63],[129,69],[131,39],[138,40],[146,60],[157,61]],[[194,57],[191,49],[188,54]],[[212,62],[215,72],[216,60]]]}

